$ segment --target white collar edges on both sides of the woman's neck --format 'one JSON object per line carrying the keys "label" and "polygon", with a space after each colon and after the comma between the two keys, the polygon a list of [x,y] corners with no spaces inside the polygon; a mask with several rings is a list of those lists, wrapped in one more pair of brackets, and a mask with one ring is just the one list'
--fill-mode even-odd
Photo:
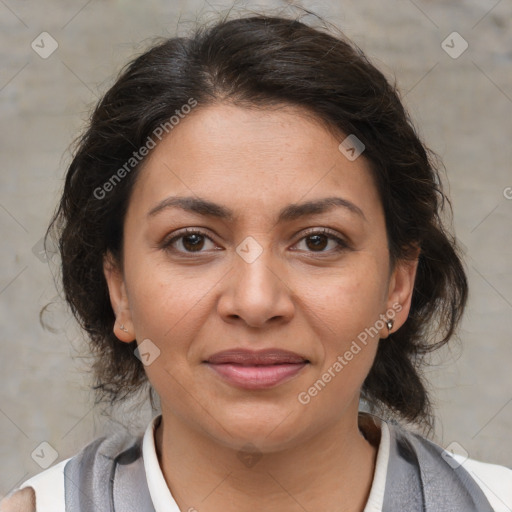
{"label": "white collar edges on both sides of the woman's neck", "polygon": [[[160,415],[155,416],[144,433],[142,442],[142,457],[148,481],[149,493],[153,500],[155,512],[180,512],[169,487],[165,481],[162,469],[158,462],[155,447],[155,428],[160,421]],[[386,474],[389,460],[390,435],[389,428],[385,421],[380,423],[381,439],[375,464],[372,487],[364,512],[380,512],[384,502],[384,490],[386,487]]]}

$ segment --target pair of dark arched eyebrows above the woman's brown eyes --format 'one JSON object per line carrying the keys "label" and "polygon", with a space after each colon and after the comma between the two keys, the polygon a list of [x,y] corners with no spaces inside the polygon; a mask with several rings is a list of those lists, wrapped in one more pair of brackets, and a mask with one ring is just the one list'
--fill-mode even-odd
{"label": "pair of dark arched eyebrows above the woman's brown eyes", "polygon": [[[351,201],[342,197],[325,197],[315,201],[307,201],[304,203],[294,203],[285,206],[278,215],[277,222],[290,222],[292,220],[305,217],[307,215],[318,215],[328,212],[336,207],[342,207],[349,212],[358,215],[367,221],[361,208]],[[181,208],[187,212],[197,213],[208,217],[215,217],[227,221],[232,221],[235,214],[229,208],[220,204],[202,199],[199,197],[168,197],[160,201],[154,208],[148,212],[148,217],[154,217],[158,213],[168,208]]]}

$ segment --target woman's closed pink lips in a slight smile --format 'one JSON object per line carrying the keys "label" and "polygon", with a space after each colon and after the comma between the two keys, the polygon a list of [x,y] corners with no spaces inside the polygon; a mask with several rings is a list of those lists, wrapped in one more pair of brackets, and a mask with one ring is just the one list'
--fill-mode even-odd
{"label": "woman's closed pink lips in a slight smile", "polygon": [[226,350],[203,361],[223,381],[242,389],[269,389],[298,375],[310,361],[285,350]]}

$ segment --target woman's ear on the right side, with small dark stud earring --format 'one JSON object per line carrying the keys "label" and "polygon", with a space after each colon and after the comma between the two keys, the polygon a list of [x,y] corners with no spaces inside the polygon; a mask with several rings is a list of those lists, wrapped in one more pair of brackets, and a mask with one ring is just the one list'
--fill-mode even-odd
{"label": "woman's ear on the right side, with small dark stud earring", "polygon": [[383,336],[384,338],[393,331],[398,330],[409,316],[420,252],[421,249],[419,247],[414,247],[411,257],[406,260],[397,261],[391,273],[388,287],[387,311],[388,313],[394,313],[393,317],[388,314],[388,317],[393,320],[393,327],[386,333],[386,336]]}

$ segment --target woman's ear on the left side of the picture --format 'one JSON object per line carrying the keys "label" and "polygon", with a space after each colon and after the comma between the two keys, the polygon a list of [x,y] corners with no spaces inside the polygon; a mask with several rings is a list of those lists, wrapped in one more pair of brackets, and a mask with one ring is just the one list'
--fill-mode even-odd
{"label": "woman's ear on the left side of the picture", "polygon": [[107,281],[110,304],[116,315],[114,334],[125,343],[135,339],[128,295],[122,270],[110,252],[103,258],[103,273]]}

